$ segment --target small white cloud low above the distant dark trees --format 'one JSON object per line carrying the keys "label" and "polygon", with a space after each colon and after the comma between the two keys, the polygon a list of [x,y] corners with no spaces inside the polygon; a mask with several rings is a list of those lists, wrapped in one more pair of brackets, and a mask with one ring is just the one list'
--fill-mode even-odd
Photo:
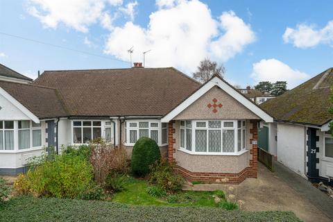
{"label": "small white cloud low above the distant dark trees", "polygon": [[260,81],[271,81],[273,83],[276,81],[287,81],[287,87],[291,89],[307,80],[310,76],[305,72],[292,69],[280,60],[271,58],[260,60],[253,64],[251,77],[256,83]]}

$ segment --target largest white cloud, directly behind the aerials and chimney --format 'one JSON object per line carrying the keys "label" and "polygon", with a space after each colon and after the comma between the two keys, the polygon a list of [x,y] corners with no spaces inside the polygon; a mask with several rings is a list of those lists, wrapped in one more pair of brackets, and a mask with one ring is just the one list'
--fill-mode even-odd
{"label": "largest white cloud, directly behind the aerials and chimney", "polygon": [[151,13],[146,28],[133,22],[115,27],[105,53],[129,60],[127,50],[134,46],[133,61],[142,61],[142,52],[151,49],[146,66],[174,66],[188,72],[205,57],[226,62],[255,40],[250,25],[232,11],[216,20],[200,1],[173,1],[173,6],[157,1],[157,6],[159,2],[169,8]]}

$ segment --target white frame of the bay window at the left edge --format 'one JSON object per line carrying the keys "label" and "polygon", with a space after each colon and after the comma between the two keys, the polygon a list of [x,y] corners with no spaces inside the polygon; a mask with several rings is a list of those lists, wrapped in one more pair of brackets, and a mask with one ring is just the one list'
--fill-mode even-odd
{"label": "white frame of the bay window at the left edge", "polygon": [[[29,119],[19,119],[19,120],[0,120],[3,122],[3,128],[0,131],[3,131],[3,149],[0,149],[0,153],[24,153],[28,151],[37,151],[44,147],[44,121],[40,121],[40,126],[33,127],[33,121]],[[4,123],[5,121],[13,121],[14,128],[13,129],[5,129]],[[29,128],[22,130],[29,130],[29,148],[19,149],[19,121],[29,121]],[[33,146],[33,130],[41,130],[41,146]],[[13,150],[5,150],[5,141],[4,141],[4,132],[5,131],[13,131],[14,132],[14,149]]]}

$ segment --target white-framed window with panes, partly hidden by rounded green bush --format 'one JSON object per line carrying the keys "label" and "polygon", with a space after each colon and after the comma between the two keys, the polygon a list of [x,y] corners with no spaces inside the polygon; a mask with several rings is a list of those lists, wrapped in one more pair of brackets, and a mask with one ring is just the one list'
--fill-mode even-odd
{"label": "white-framed window with panes, partly hidden by rounded green bush", "polygon": [[126,144],[133,146],[141,137],[149,137],[160,146],[167,144],[167,123],[126,121]]}

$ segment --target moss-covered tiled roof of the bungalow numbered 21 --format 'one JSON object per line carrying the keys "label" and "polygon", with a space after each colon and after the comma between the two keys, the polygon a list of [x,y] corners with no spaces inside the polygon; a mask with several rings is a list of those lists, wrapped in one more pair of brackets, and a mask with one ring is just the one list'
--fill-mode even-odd
{"label": "moss-covered tiled roof of the bungalow numbered 21", "polygon": [[330,102],[332,86],[333,68],[330,68],[259,106],[280,121],[322,126],[333,119],[333,115],[328,112],[332,107]]}

